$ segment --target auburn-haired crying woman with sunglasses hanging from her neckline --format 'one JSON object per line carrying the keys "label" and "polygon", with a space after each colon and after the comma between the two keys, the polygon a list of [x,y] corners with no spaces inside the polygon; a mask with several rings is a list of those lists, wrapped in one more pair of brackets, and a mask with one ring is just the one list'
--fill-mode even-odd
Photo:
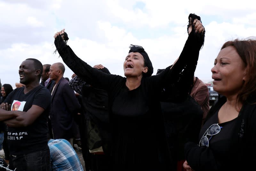
{"label": "auburn-haired crying woman with sunglasses hanging from her neckline", "polygon": [[256,39],[224,43],[211,71],[213,89],[223,97],[210,109],[199,145],[185,145],[183,167],[187,171],[255,170]]}

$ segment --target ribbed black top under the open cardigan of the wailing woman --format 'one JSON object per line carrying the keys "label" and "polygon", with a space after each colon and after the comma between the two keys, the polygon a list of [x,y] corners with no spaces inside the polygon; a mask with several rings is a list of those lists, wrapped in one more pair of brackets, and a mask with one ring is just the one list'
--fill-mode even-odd
{"label": "ribbed black top under the open cardigan of the wailing woman", "polygon": [[[157,119],[160,112],[158,104],[151,104],[152,92],[145,92],[141,85],[137,89],[129,91],[125,86],[116,96],[112,105],[112,122],[114,144],[113,156],[115,163],[126,162],[126,168],[136,162],[152,166],[158,165],[157,152],[163,143],[163,137],[158,136],[163,128],[156,128],[160,120]],[[150,105],[153,105],[150,108]],[[166,144],[162,144],[166,145]],[[155,168],[156,169],[156,168]]]}

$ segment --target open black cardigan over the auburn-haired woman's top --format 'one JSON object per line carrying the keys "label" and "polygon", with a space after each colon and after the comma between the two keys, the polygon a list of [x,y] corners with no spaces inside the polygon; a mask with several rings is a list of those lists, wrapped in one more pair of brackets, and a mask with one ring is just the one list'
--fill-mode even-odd
{"label": "open black cardigan over the auburn-haired woman's top", "polygon": [[[226,97],[221,97],[210,109],[208,120],[226,102]],[[236,120],[234,130],[230,131],[232,145],[235,149],[226,160],[219,160],[214,156],[210,148],[199,147],[189,142],[185,144],[185,156],[188,164],[196,171],[203,170],[253,170],[252,163],[256,162],[256,98],[251,97],[242,106]],[[227,147],[228,148],[228,147]],[[211,166],[211,163],[218,165]]]}

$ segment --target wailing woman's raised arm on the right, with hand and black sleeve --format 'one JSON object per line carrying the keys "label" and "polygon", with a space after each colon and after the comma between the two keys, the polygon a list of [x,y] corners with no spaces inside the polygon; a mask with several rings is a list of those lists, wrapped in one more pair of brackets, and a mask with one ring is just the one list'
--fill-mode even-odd
{"label": "wailing woman's raised arm on the right, with hand and black sleeve", "polygon": [[[187,99],[193,84],[199,51],[204,44],[204,27],[195,14],[189,15],[188,39],[180,57],[172,66],[168,66],[162,73],[152,76],[153,85],[165,90],[166,97],[173,97],[175,101]],[[156,88],[154,87],[154,88]]]}

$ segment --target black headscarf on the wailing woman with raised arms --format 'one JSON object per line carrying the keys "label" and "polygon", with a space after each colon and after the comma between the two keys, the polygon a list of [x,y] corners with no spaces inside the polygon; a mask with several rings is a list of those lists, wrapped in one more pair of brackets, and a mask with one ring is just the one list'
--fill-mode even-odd
{"label": "black headscarf on the wailing woman with raised arms", "polygon": [[148,54],[147,52],[143,49],[142,46],[139,46],[139,45],[133,45],[131,44],[131,46],[129,46],[130,48],[130,52],[139,52],[143,58],[144,58],[144,63],[145,63],[145,66],[148,67],[148,72],[147,73],[143,73],[143,76],[146,76],[146,77],[149,77],[153,74],[153,71],[154,71],[154,68],[152,66],[152,63],[148,57]]}

